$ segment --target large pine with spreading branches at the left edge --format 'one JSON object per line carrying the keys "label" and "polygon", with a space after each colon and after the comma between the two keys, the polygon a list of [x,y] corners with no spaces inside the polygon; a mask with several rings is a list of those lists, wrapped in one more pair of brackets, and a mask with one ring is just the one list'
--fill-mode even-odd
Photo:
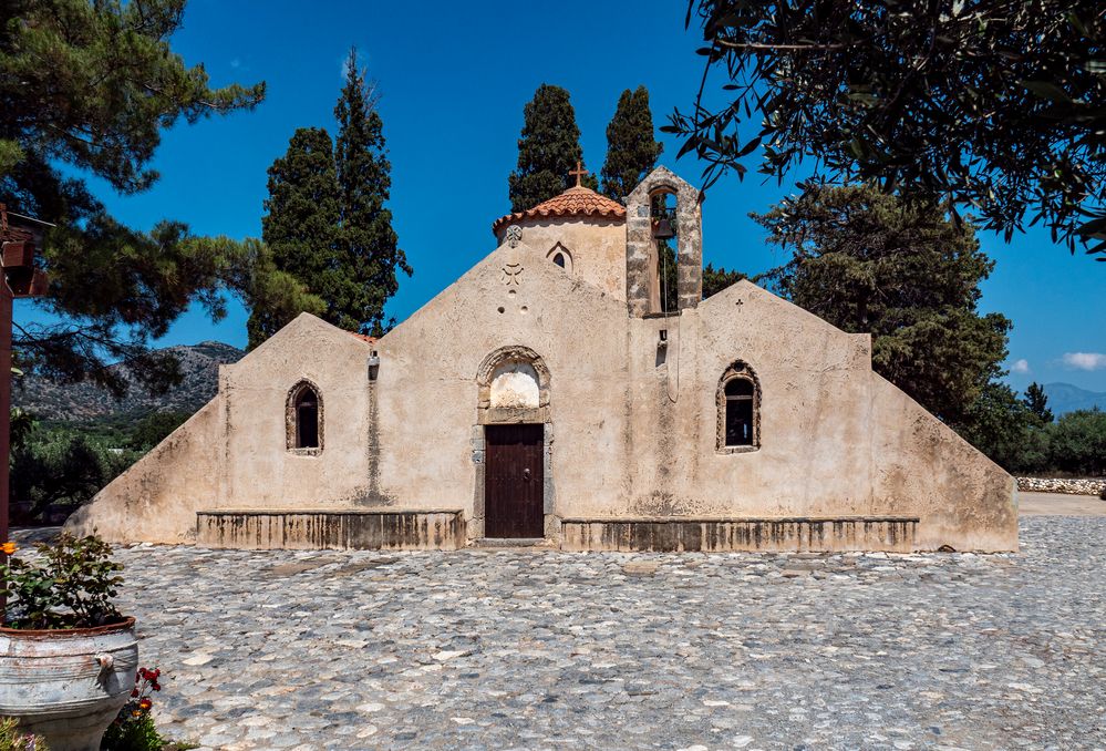
{"label": "large pine with spreading branches at the left edge", "polygon": [[87,378],[122,395],[124,370],[105,367],[122,361],[165,388],[162,377],[179,373],[149,340],[193,302],[225,313],[227,259],[205,238],[178,222],[127,227],[100,199],[156,183],[164,130],[265,96],[263,83],[214,89],[201,64],[185,65],[173,44],[184,14],[185,0],[0,2],[0,203],[55,225],[38,257],[50,289],[29,304],[50,316],[14,332],[29,373]]}

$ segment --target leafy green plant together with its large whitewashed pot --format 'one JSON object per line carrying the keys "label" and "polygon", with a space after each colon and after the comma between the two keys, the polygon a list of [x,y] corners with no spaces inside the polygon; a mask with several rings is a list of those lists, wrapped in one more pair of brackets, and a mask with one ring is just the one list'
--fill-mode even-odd
{"label": "leafy green plant together with its large whitewashed pot", "polygon": [[138,667],[134,618],[112,604],[123,566],[95,536],[35,549],[0,566],[0,716],[52,751],[97,751]]}

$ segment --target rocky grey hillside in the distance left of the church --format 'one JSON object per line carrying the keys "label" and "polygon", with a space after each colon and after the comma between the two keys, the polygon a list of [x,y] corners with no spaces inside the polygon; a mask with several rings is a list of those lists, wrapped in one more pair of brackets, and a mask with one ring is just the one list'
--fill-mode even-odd
{"label": "rocky grey hillside in the distance left of the church", "polygon": [[242,350],[218,341],[204,341],[190,347],[167,347],[180,361],[184,379],[179,385],[162,395],[151,394],[137,385],[125,366],[111,366],[122,371],[131,383],[127,395],[117,402],[93,383],[55,383],[41,378],[18,379],[12,390],[12,403],[43,420],[87,421],[113,414],[144,414],[153,411],[192,413],[207,403],[219,389],[219,366],[238,362]]}

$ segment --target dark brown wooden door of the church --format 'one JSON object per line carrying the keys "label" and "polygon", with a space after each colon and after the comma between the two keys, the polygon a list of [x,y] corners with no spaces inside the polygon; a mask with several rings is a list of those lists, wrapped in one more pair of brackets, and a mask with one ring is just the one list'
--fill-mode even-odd
{"label": "dark brown wooden door of the church", "polygon": [[484,430],[484,536],[544,537],[542,425]]}

